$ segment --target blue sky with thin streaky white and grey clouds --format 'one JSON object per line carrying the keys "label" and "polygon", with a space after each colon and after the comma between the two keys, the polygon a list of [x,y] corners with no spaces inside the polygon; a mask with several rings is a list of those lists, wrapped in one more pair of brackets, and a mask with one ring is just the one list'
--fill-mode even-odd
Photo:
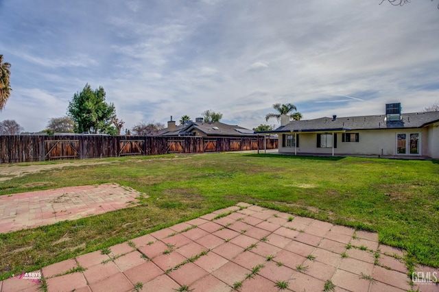
{"label": "blue sky with thin streaky white and grey clouds", "polygon": [[439,101],[438,1],[380,2],[0,0],[0,121],[43,130],[86,83],[126,128],[209,109],[252,128],[275,103],[305,119],[420,112]]}

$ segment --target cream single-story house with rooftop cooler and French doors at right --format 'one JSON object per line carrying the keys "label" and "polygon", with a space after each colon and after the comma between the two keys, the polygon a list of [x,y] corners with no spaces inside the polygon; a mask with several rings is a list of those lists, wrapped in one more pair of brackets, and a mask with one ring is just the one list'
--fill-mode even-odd
{"label": "cream single-story house with rooftop cooler and French doors at right", "polygon": [[385,114],[322,117],[289,121],[258,134],[278,134],[281,154],[332,156],[424,156],[439,159],[439,112],[401,114],[401,104],[386,104]]}

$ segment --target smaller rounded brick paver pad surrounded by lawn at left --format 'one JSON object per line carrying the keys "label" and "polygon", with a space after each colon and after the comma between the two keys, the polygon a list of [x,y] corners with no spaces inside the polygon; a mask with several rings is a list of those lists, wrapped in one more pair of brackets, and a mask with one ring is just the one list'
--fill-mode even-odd
{"label": "smaller rounded brick paver pad surrounded by lawn at left", "polygon": [[127,208],[140,193],[119,184],[71,186],[0,196],[0,233]]}

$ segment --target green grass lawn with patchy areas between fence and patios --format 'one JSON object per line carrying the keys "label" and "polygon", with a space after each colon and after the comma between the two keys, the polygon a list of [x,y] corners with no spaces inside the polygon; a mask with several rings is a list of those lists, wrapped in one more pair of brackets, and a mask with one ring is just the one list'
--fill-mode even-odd
{"label": "green grass lawn with patchy areas between fence and patios", "polygon": [[[0,234],[0,279],[102,250],[237,202],[379,232],[407,263],[439,267],[439,161],[264,154],[89,160],[0,182],[0,195],[117,182],[149,196],[139,206]],[[8,167],[1,165],[0,167]]]}

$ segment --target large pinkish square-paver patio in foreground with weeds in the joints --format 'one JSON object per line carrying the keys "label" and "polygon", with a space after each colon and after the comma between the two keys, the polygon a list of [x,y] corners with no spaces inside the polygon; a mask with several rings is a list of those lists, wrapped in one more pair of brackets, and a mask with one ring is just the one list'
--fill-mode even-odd
{"label": "large pinkish square-paver patio in foreground with weeds in the joints", "polygon": [[[429,279],[411,287],[403,255],[376,233],[239,203],[38,272],[47,291],[439,291]],[[75,267],[84,271],[67,273]],[[0,282],[2,292],[40,286]]]}

